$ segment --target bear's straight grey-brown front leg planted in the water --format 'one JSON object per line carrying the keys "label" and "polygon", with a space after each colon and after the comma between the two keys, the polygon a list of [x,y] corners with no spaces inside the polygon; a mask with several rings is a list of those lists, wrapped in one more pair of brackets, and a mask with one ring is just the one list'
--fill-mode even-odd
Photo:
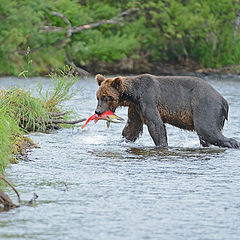
{"label": "bear's straight grey-brown front leg planted in the water", "polygon": [[143,108],[143,116],[146,119],[148,131],[155,145],[159,147],[167,147],[166,127],[159,115],[157,107],[145,106]]}

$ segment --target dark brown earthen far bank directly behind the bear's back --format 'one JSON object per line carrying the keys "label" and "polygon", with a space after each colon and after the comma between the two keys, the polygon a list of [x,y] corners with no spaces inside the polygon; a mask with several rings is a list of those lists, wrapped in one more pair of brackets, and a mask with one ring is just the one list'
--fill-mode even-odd
{"label": "dark brown earthen far bank directly behind the bear's back", "polygon": [[155,75],[239,75],[240,64],[228,65],[219,68],[205,68],[201,64],[192,60],[183,61],[182,64],[178,63],[160,63],[149,62],[145,58],[130,59],[124,58],[115,63],[109,62],[92,62],[87,65],[84,70],[91,74],[141,74],[152,73]]}

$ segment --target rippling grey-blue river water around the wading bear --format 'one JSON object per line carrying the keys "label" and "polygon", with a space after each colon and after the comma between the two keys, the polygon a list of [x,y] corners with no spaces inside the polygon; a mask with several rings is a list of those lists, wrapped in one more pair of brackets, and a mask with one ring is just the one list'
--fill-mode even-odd
{"label": "rippling grey-blue river water around the wading bear", "polygon": [[[240,78],[207,79],[230,105],[224,134],[240,141]],[[48,79],[1,78],[0,86],[36,89]],[[97,84],[64,104],[77,118],[96,107]],[[127,109],[116,112],[127,119]],[[154,147],[147,129],[135,143],[122,141],[124,123],[61,129],[30,137],[40,148],[6,170],[36,206],[0,213],[0,239],[240,239],[240,151],[200,147],[195,133],[167,126],[169,149]],[[65,186],[64,182],[67,184]],[[17,202],[14,193],[8,192]]]}

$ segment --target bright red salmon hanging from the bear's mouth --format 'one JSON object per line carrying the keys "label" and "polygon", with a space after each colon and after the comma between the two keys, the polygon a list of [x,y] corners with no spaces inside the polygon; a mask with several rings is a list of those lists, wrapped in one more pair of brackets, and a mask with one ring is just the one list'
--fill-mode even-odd
{"label": "bright red salmon hanging from the bear's mouth", "polygon": [[91,117],[88,118],[88,120],[85,122],[85,124],[81,127],[82,129],[90,122],[94,120],[95,123],[98,122],[98,120],[106,120],[107,121],[107,126],[109,126],[110,122],[113,123],[120,123],[123,122],[124,119],[117,116],[116,114],[114,114],[111,111],[106,111],[103,114],[93,114]]}

